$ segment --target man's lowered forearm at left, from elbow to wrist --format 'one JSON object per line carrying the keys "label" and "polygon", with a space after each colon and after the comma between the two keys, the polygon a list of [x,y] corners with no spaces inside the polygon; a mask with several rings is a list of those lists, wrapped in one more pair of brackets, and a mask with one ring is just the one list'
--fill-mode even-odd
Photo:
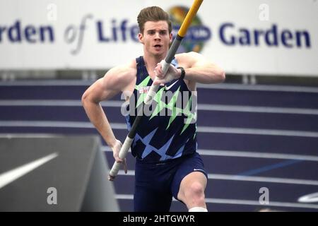
{"label": "man's lowered forearm at left, from elbow to wrist", "polygon": [[83,107],[86,111],[88,119],[90,119],[102,138],[104,138],[107,145],[112,148],[116,143],[116,138],[100,103],[83,100]]}

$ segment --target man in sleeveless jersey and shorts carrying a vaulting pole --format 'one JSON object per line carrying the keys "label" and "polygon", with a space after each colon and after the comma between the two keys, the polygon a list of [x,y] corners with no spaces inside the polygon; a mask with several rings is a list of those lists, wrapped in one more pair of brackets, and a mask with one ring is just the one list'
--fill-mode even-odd
{"label": "man in sleeveless jersey and shorts carrying a vaulting pole", "polygon": [[[191,91],[196,90],[196,83],[221,83],[225,79],[220,67],[195,52],[176,54],[163,75],[160,61],[165,59],[172,42],[169,15],[163,9],[152,6],[143,8],[137,20],[143,56],[107,71],[82,97],[88,118],[112,148],[116,162],[124,164],[125,171],[126,160],[118,157],[122,143],[114,136],[100,105],[102,100],[125,92],[131,97],[134,95],[131,100],[134,100],[134,107],[138,107],[141,104],[138,99],[155,81],[160,85],[158,98],[155,98],[158,107],[152,110],[167,112],[170,108],[174,112],[174,102],[160,99],[160,92],[188,92],[187,98],[191,101]],[[158,78],[155,80],[155,77]],[[190,114],[184,112],[171,117],[172,114],[163,115],[158,111],[143,116],[131,145],[131,153],[136,157],[134,210],[169,211],[173,196],[182,201],[189,211],[206,212],[204,191],[207,174],[201,156],[196,153],[196,123],[187,123],[185,119]],[[126,116],[128,129],[134,119],[134,115]]]}

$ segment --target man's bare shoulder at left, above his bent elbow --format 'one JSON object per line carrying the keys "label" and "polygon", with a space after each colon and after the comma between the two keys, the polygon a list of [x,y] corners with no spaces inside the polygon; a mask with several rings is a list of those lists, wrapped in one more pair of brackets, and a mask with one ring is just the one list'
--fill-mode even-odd
{"label": "man's bare shoulder at left, above his bent elbow", "polygon": [[107,89],[124,90],[136,80],[136,61],[129,61],[127,64],[115,66],[105,73],[102,78],[103,85]]}

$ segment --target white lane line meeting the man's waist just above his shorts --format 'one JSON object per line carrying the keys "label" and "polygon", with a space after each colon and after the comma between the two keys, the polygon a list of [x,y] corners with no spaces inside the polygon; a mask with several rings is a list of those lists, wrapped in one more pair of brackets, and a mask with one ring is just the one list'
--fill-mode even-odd
{"label": "white lane line meeting the man's waist just above his shorts", "polygon": [[[102,146],[102,151],[112,152],[112,150],[108,146]],[[246,151],[237,151],[237,150],[208,150],[208,149],[198,149],[197,152],[200,155],[206,155],[206,156],[257,157],[257,158],[303,160],[303,161],[318,162],[318,156],[315,156],[315,155],[292,155],[292,154],[283,154],[283,153],[259,153],[259,152],[246,152]]]}

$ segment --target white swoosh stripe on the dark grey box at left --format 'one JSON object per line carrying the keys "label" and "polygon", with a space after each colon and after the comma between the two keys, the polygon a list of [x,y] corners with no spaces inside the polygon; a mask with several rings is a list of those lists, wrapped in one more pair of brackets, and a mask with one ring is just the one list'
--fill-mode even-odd
{"label": "white swoosh stripe on the dark grey box at left", "polygon": [[8,172],[1,173],[0,174],[0,189],[6,186],[7,184],[10,184],[11,182],[14,182],[16,179],[23,177],[25,174],[28,174],[28,172],[33,171],[37,167],[40,167],[41,165],[45,164],[46,162],[49,162],[50,160],[54,159],[54,157],[57,157],[57,156],[58,156],[57,153],[52,153],[51,155],[47,155],[33,162],[29,162],[20,167],[16,167],[15,169],[11,169]]}

